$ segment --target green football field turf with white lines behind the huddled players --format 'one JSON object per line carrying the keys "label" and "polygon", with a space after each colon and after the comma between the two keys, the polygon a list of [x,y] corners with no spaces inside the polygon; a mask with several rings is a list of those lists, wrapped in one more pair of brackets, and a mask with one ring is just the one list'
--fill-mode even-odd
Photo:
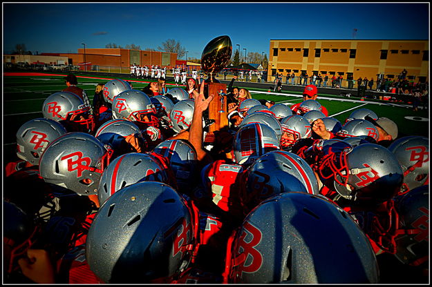
{"label": "green football field turf with white lines behind the huddled players", "polygon": [[[133,88],[142,90],[149,80],[129,78],[124,75],[120,79],[133,83]],[[29,121],[42,116],[42,104],[49,95],[66,88],[65,75],[48,73],[4,73],[3,74],[3,166],[8,161],[16,160],[15,134],[19,127]],[[78,85],[86,90],[88,98],[93,101],[97,83],[106,83],[111,76],[77,75]],[[241,88],[241,82],[237,83]],[[167,81],[167,87],[175,87],[173,82]],[[299,92],[268,92],[265,89],[249,89],[254,99],[267,99],[276,103],[288,105],[302,101]],[[319,93],[317,99],[328,110],[329,117],[335,117],[341,123],[356,108],[368,108],[379,117],[388,117],[397,123],[399,137],[406,135],[422,135],[429,137],[429,110],[413,112],[411,106],[384,101],[359,101],[335,95]]]}

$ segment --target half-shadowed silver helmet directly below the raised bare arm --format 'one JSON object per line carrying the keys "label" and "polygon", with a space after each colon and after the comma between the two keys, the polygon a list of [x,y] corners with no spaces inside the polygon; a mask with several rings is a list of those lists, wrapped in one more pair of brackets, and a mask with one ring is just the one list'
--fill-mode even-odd
{"label": "half-shadowed silver helmet directly below the raised bare arm", "polygon": [[186,141],[169,139],[162,141],[153,152],[165,157],[176,177],[178,191],[189,194],[196,181],[196,157],[195,149]]}

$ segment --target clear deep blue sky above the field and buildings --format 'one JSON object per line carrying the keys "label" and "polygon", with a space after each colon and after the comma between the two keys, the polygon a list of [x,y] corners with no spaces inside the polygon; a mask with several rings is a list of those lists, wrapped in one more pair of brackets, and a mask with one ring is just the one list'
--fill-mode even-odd
{"label": "clear deep blue sky above the field and buildings", "polygon": [[175,39],[200,59],[221,35],[233,49],[267,55],[270,39],[429,39],[429,3],[3,2],[3,54],[18,43],[40,54]]}

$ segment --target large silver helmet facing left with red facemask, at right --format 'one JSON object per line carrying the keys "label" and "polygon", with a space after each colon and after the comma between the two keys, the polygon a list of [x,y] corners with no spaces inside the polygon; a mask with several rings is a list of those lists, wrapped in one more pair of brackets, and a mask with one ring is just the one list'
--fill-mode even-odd
{"label": "large silver helmet facing left with red facemask, at right", "polygon": [[319,175],[323,182],[332,179],[332,188],[341,197],[359,204],[381,204],[391,199],[400,191],[404,178],[395,155],[375,143],[326,155]]}

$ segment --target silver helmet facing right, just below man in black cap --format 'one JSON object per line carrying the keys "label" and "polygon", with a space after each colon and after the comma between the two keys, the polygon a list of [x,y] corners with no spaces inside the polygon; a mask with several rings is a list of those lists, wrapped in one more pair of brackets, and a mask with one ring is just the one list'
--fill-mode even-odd
{"label": "silver helmet facing right, just below man in black cap", "polygon": [[55,92],[45,99],[42,115],[54,121],[67,121],[77,130],[93,132],[95,119],[91,115],[90,108],[73,92]]}

